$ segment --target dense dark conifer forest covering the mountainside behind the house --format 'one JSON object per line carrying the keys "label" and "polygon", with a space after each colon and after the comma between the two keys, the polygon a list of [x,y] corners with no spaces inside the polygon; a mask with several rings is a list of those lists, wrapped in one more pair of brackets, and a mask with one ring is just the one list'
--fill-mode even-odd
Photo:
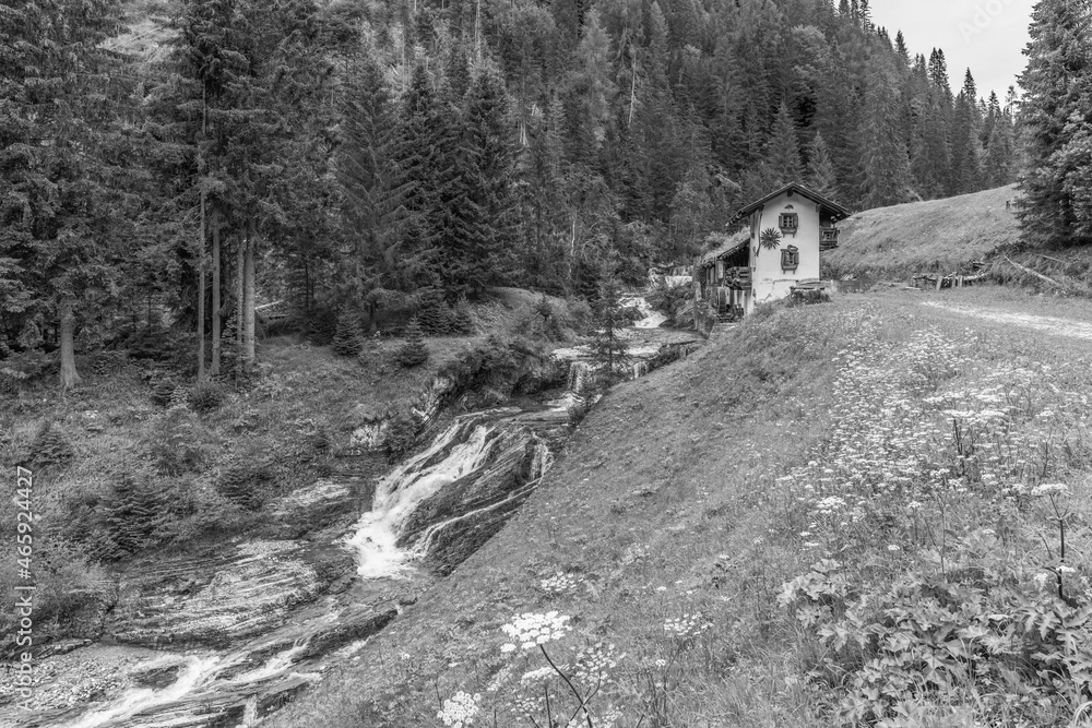
{"label": "dense dark conifer forest covering the mountainside behind the house", "polygon": [[216,375],[258,301],[329,337],[490,285],[594,297],[790,180],[866,210],[1020,164],[1014,91],[867,0],[0,7],[0,357],[59,349],[66,386],[163,312]]}

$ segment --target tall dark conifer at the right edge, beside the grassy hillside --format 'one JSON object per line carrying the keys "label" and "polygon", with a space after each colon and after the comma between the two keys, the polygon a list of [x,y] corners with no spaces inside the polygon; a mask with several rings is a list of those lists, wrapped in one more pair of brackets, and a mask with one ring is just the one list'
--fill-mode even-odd
{"label": "tall dark conifer at the right edge, beside the grassy hillside", "polygon": [[[1020,77],[1029,166],[1020,178],[1018,212],[1023,237],[1034,244],[1092,241],[1078,220],[1073,193],[1083,186],[1089,80],[1092,79],[1092,2],[1041,0],[1032,11],[1028,68]],[[1068,146],[1068,148],[1067,148]]]}

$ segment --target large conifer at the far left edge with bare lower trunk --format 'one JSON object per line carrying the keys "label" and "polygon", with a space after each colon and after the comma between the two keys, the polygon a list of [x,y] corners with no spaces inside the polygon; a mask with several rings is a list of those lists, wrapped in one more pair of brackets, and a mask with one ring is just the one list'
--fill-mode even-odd
{"label": "large conifer at the far left edge with bare lower trunk", "polygon": [[136,107],[103,48],[119,25],[116,0],[0,4],[0,319],[32,347],[56,325],[62,387],[80,382],[76,325],[94,337],[128,237]]}

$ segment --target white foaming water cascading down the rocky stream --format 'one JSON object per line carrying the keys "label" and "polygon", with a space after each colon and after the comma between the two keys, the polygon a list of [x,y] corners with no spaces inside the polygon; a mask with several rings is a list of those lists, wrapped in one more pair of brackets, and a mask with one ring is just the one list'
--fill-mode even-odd
{"label": "white foaming water cascading down the rocky stream", "polygon": [[[645,313],[630,330],[644,330],[630,349],[637,359],[632,365],[637,378],[648,373],[644,359],[660,350],[663,336],[668,334],[648,331],[663,319],[651,311],[646,301],[634,299],[631,303]],[[525,409],[508,407],[456,417],[426,450],[379,480],[371,511],[357,521],[343,541],[355,551],[361,580],[411,578],[419,573],[414,564],[430,557],[437,559],[430,568],[439,566],[437,573],[444,573],[443,569],[473,552],[482,535],[487,538],[500,527],[538,487],[553,462],[546,441],[558,437],[568,425],[569,407],[590,396],[589,384],[596,372],[589,347],[559,350],[555,356],[569,362],[567,391],[560,398]],[[274,682],[321,679],[314,670],[325,656],[317,663],[308,655],[316,635],[340,623],[339,614],[345,605],[333,599],[339,608],[310,621],[286,624],[275,635],[271,633],[232,653],[176,654],[170,661],[183,667],[171,684],[132,688],[70,725],[128,728],[145,725],[152,715],[169,716],[163,725],[175,725],[177,720],[181,720],[178,725],[205,725],[204,711],[211,709],[213,702],[239,706],[242,703],[232,701],[240,700],[246,715],[253,718],[258,711],[256,695]]]}

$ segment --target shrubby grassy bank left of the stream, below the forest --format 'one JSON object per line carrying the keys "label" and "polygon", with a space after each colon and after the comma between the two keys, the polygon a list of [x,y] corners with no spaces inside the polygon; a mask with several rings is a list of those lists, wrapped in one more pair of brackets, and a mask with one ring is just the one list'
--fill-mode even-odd
{"label": "shrubby grassy bank left of the stream, below the forest", "polygon": [[[412,369],[396,363],[397,338],[339,357],[329,346],[281,337],[263,343],[258,374],[241,389],[195,386],[188,351],[175,355],[185,366],[126,350],[79,356],[84,382],[67,394],[55,384],[56,357],[22,383],[0,377],[0,463],[24,463],[35,474],[36,645],[97,636],[132,556],[240,536],[296,537],[352,518],[353,504],[322,523],[273,513],[278,498],[320,477],[351,474],[368,486],[389,465],[382,453],[343,457],[361,418],[407,417],[438,372],[464,351],[488,349],[490,335],[501,347],[566,335],[573,323],[567,305],[551,302],[558,319],[547,325],[537,300],[499,291],[497,301],[476,307],[475,335],[428,338],[428,362]],[[0,504],[11,533],[15,508],[12,499]],[[10,593],[15,568],[13,559],[0,566],[0,592]],[[0,633],[11,634],[11,617],[0,610]]]}

